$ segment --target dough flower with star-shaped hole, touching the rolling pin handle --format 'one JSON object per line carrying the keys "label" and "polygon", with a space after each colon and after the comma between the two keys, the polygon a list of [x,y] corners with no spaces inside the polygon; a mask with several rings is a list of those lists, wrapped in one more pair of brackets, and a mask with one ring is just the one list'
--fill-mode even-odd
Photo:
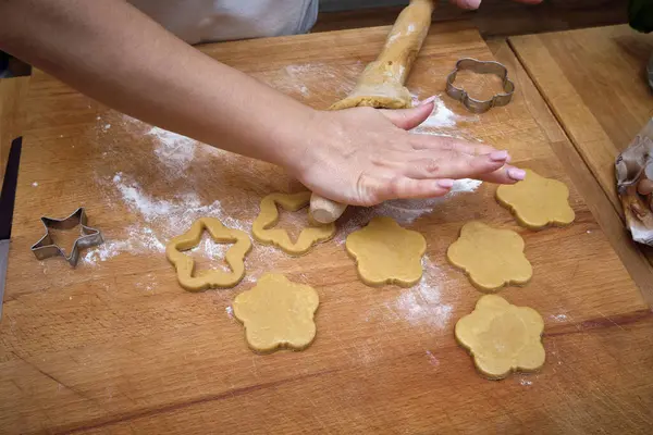
{"label": "dough flower with star-shaped hole, touching the rolling pin handle", "polygon": [[335,224],[311,223],[301,229],[297,241],[293,243],[288,232],[282,228],[272,228],[279,222],[279,210],[276,204],[287,211],[297,211],[307,207],[310,202],[310,191],[299,194],[271,194],[261,200],[261,211],[254,221],[251,234],[254,238],[264,245],[273,245],[281,248],[291,256],[303,256],[309,249],[320,243],[331,239],[335,235]]}

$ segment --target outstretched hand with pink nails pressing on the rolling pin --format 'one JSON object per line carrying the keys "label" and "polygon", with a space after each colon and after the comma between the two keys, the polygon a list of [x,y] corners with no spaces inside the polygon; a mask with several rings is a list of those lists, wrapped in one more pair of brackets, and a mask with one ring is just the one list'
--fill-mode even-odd
{"label": "outstretched hand with pink nails pressing on the rolling pin", "polygon": [[502,184],[523,179],[522,170],[507,164],[507,151],[406,132],[432,110],[428,102],[394,111],[316,112],[303,129],[303,154],[288,156],[284,165],[312,191],[353,206],[443,196],[458,178]]}

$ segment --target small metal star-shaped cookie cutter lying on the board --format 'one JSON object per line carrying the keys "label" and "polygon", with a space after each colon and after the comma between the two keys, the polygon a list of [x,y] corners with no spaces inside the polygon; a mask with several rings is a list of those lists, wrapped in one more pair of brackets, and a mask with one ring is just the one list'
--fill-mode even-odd
{"label": "small metal star-shaped cookie cutter lying on the board", "polygon": [[[86,211],[83,207],[78,208],[73,214],[64,219],[42,216],[40,220],[46,227],[46,234],[32,247],[32,252],[34,252],[39,260],[61,256],[74,268],[79,260],[79,250],[100,245],[104,241],[102,234],[98,229],[86,225]],[[71,254],[66,256],[63,249],[52,240],[50,229],[72,229],[77,225],[79,225],[81,236],[77,237],[73,244]]]}

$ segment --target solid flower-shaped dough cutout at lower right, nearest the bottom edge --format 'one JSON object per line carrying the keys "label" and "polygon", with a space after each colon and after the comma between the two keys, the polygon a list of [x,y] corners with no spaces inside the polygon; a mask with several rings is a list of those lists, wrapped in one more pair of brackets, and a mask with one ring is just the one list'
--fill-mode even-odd
{"label": "solid flower-shaped dough cutout at lower right, nearest the bottom edge", "polygon": [[481,374],[503,380],[510,372],[532,372],[544,365],[543,331],[542,316],[532,308],[485,295],[471,314],[456,323],[455,335]]}

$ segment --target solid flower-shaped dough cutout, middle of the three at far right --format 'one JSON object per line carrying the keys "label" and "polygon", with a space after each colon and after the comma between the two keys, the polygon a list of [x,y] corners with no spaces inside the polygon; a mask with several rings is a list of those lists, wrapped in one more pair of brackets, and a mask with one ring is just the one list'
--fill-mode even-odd
{"label": "solid flower-shaped dough cutout, middle of the three at far right", "polygon": [[519,234],[495,229],[478,221],[463,226],[460,237],[448,247],[446,258],[484,291],[509,284],[526,284],[533,275]]}

